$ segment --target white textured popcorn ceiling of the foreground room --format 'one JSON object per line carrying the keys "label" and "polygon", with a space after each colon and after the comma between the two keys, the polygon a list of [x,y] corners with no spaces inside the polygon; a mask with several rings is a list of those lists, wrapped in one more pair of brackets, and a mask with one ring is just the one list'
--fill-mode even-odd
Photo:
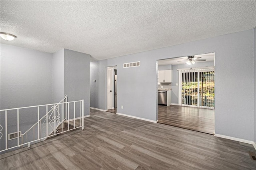
{"label": "white textured popcorn ceiling of the foreground room", "polygon": [[255,1],[2,1],[1,43],[102,60],[253,29]]}

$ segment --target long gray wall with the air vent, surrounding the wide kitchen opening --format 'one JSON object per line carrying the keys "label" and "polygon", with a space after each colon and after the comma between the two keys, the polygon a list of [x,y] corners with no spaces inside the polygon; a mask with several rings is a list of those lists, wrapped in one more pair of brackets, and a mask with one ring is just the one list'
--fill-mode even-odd
{"label": "long gray wall with the air vent, surrounding the wide kitchen opening", "polygon": [[[215,132],[221,135],[254,140],[254,29],[193,41],[152,51],[98,61],[99,79],[103,67],[117,65],[117,112],[156,120],[156,60],[215,52]],[[242,56],[242,57],[241,57]],[[123,63],[141,61],[140,67],[122,68]],[[106,80],[99,80],[97,98],[105,98]],[[240,86],[243,82],[246,86]],[[144,86],[146,84],[146,86]],[[232,84],[232,86],[230,86]],[[92,105],[106,109],[106,102]],[[121,105],[124,109],[121,109]]]}

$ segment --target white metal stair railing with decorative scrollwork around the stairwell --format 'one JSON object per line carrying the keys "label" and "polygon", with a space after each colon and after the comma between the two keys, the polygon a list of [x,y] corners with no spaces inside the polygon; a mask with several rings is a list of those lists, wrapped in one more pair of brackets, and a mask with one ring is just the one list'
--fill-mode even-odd
{"label": "white metal stair railing with decorative scrollwork around the stairwell", "polygon": [[[84,100],[0,110],[0,152],[84,129]],[[34,123],[33,123],[34,122]]]}

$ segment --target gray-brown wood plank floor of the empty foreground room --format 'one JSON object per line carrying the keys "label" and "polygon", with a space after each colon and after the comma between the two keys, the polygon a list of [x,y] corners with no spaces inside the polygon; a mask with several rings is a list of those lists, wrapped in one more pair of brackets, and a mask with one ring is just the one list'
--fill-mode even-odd
{"label": "gray-brown wood plank floor of the empty foreground room", "polygon": [[93,109],[84,120],[84,131],[1,155],[0,169],[256,169],[252,145]]}

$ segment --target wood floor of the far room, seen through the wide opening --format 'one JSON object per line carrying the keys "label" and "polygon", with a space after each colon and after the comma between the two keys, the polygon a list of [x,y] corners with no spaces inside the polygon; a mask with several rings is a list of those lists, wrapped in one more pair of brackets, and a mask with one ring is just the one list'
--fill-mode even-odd
{"label": "wood floor of the far room, seen through the wide opening", "polygon": [[214,110],[158,105],[158,123],[214,134]]}

